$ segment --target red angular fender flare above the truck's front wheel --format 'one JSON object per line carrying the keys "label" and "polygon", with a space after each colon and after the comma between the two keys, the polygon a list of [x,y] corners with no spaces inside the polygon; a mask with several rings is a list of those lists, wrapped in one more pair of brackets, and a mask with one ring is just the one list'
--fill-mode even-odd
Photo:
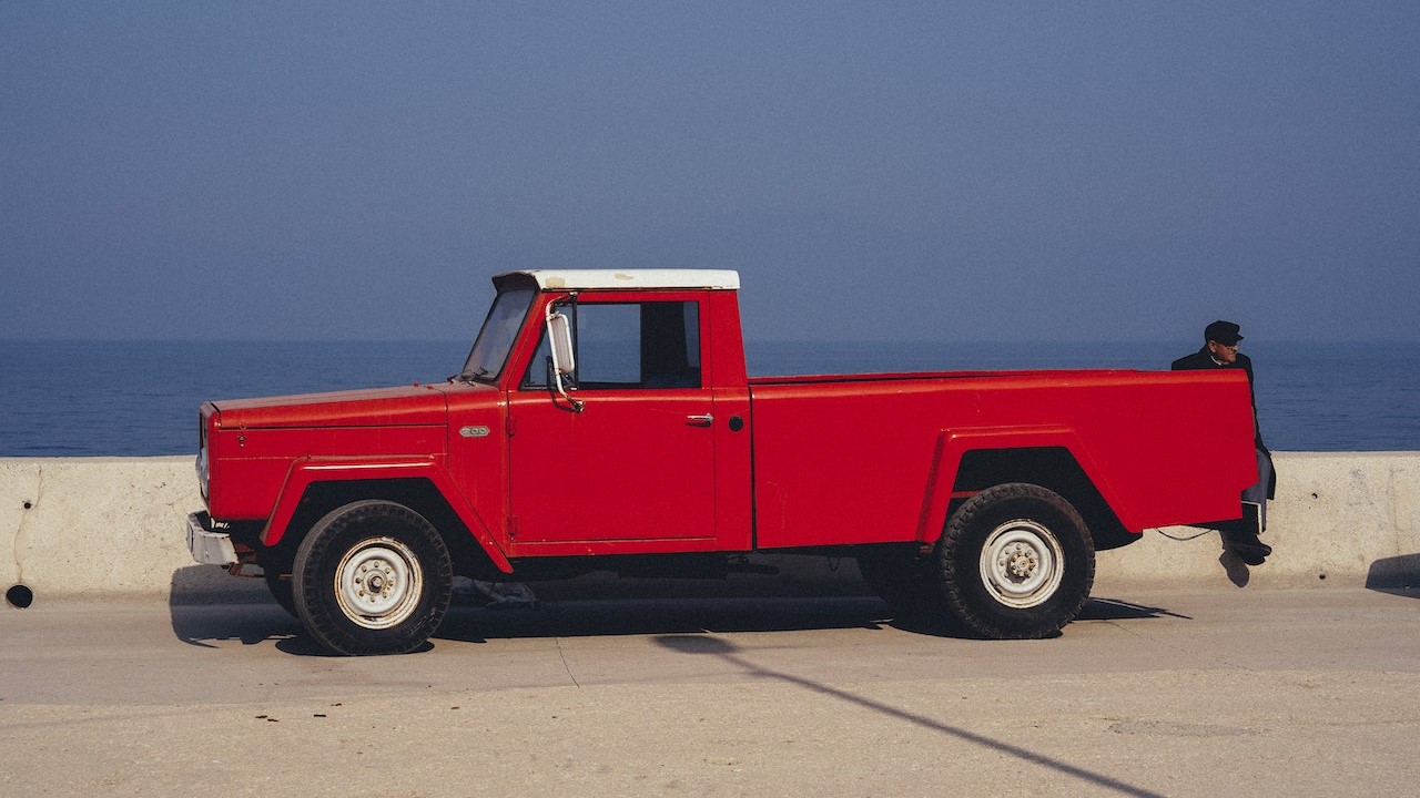
{"label": "red angular fender flare above the truck's front wheel", "polygon": [[483,548],[493,565],[511,574],[513,565],[498,548],[497,541],[488,527],[479,517],[477,511],[463,498],[463,494],[453,486],[449,473],[432,460],[409,461],[331,461],[331,460],[298,460],[291,464],[287,473],[285,486],[277,497],[271,518],[261,531],[261,542],[274,547],[285,537],[291,518],[301,504],[311,486],[318,483],[361,483],[373,480],[427,480],[433,484],[453,513],[464,527],[473,532],[474,540]]}

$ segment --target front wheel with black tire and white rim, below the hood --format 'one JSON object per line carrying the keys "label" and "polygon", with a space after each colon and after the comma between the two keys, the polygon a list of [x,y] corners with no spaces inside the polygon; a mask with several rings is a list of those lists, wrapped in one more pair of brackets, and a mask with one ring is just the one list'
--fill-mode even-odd
{"label": "front wheel with black tire and white rim, below the hood", "polygon": [[297,616],[324,647],[408,653],[429,640],[453,595],[439,531],[390,501],[356,501],[311,527],[291,574]]}

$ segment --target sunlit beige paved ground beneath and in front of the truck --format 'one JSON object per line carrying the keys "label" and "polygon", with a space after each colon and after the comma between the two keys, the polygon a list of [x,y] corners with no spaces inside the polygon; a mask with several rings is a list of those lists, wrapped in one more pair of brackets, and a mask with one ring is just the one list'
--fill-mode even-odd
{"label": "sunlit beige paved ground beneath and in front of the truck", "polygon": [[1417,599],[1100,596],[1032,642],[554,601],[376,659],[274,605],[37,602],[0,609],[0,795],[1414,795]]}

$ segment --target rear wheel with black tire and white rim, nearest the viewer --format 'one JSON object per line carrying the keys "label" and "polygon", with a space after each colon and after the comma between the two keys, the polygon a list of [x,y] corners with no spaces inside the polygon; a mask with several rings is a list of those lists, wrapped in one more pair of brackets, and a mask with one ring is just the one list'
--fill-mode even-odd
{"label": "rear wheel with black tire and white rim, nearest the viewer", "polygon": [[1049,638],[1074,621],[1095,582],[1095,547],[1059,494],[1012,483],[957,508],[937,542],[950,612],[988,639]]}

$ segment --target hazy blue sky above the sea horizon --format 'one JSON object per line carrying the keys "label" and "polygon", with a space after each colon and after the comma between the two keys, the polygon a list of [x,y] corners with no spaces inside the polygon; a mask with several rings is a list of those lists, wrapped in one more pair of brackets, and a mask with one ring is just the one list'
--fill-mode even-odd
{"label": "hazy blue sky above the sea horizon", "polygon": [[0,4],[0,338],[1420,339],[1420,3]]}

